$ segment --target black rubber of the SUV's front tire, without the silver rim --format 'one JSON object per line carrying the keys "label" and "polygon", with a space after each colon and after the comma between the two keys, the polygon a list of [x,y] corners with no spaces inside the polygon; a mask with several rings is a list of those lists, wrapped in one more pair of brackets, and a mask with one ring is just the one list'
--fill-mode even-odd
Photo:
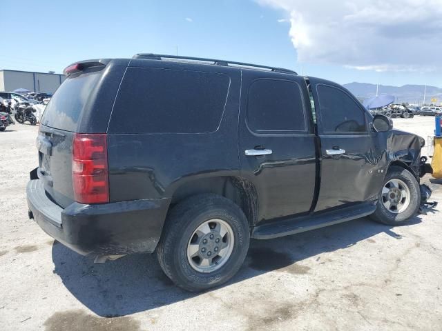
{"label": "black rubber of the SUV's front tire, without the silver rim", "polygon": [[375,221],[383,224],[401,225],[417,214],[419,206],[421,205],[421,189],[419,188],[419,183],[413,174],[405,168],[392,166],[385,176],[382,188],[384,188],[385,184],[392,179],[399,179],[405,183],[405,185],[407,185],[408,189],[410,190],[410,203],[402,212],[391,212],[383,203],[381,189],[381,192],[379,192],[378,195],[376,211],[371,217]]}

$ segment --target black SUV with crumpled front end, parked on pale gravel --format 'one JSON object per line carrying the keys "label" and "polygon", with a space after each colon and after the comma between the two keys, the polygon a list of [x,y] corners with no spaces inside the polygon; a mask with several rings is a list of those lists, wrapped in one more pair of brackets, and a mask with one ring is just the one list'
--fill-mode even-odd
{"label": "black SUV with crumpled front end, parked on pale gravel", "polygon": [[187,290],[224,283],[251,238],[418,211],[423,139],[291,70],[137,54],[81,61],[41,119],[30,218],[97,261],[156,252]]}

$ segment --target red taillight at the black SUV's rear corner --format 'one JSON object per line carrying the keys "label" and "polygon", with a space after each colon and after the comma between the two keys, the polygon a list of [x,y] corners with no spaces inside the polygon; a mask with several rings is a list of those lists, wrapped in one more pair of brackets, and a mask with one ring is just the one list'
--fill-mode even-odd
{"label": "red taillight at the black SUV's rear corner", "polygon": [[75,201],[109,202],[108,153],[105,133],[76,133],[72,151]]}

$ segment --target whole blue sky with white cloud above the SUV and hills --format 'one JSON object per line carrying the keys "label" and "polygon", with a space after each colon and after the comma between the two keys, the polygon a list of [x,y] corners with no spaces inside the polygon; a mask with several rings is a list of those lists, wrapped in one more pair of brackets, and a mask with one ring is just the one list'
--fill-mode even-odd
{"label": "whole blue sky with white cloud above the SUV and hills", "polygon": [[0,69],[178,53],[442,87],[442,0],[1,0],[0,10]]}

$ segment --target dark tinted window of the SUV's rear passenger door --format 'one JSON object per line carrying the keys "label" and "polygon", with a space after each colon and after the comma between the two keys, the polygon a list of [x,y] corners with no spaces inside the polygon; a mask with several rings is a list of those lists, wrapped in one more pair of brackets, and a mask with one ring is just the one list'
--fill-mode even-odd
{"label": "dark tinted window of the SUV's rear passenger door", "polygon": [[254,81],[249,88],[247,124],[256,132],[305,131],[300,86],[275,79]]}

